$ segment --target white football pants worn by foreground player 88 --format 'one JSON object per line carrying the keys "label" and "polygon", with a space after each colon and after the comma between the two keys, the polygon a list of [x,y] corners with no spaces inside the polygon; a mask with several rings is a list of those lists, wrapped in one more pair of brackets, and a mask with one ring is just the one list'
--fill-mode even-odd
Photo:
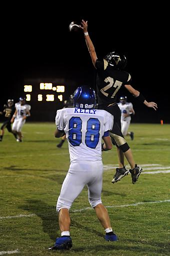
{"label": "white football pants worn by foreground player 88", "polygon": [[63,181],[56,210],[70,209],[75,198],[87,185],[88,201],[92,208],[101,203],[102,161],[72,161]]}

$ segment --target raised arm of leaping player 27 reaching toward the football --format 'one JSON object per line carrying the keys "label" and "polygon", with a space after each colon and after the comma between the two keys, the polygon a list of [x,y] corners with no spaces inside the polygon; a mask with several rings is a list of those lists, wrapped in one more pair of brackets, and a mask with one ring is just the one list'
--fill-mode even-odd
{"label": "raised arm of leaping player 27 reaching toward the football", "polygon": [[88,32],[87,32],[87,21],[85,22],[84,20],[82,20],[81,25],[79,25],[79,27],[84,32],[85,43],[86,43],[86,46],[88,48],[89,54],[91,56],[92,63],[95,67],[95,62],[96,62],[97,56],[96,56],[96,53],[95,53],[95,48],[93,46],[93,43],[92,43],[92,41],[91,41],[91,39],[88,35]]}

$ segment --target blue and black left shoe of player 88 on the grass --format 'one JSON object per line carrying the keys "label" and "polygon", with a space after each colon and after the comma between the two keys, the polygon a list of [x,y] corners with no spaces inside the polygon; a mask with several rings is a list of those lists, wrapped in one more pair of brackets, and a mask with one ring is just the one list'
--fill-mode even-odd
{"label": "blue and black left shoe of player 88 on the grass", "polygon": [[72,247],[72,240],[70,236],[57,237],[55,244],[48,248],[48,250],[69,250]]}

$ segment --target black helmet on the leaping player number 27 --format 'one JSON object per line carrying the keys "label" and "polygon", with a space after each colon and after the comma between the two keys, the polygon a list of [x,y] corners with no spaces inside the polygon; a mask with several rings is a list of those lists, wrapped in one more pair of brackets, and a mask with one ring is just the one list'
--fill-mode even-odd
{"label": "black helmet on the leaping player number 27", "polygon": [[108,53],[104,59],[108,62],[108,64],[114,66],[117,69],[124,69],[127,64],[126,57],[124,55],[120,55],[117,52]]}

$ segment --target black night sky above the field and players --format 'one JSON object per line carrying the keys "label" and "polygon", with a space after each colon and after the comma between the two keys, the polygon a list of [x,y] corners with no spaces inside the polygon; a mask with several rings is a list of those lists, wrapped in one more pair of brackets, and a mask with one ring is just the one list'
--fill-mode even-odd
{"label": "black night sky above the field and players", "polygon": [[[150,109],[148,112],[155,115],[155,121],[161,118],[170,121],[167,113],[170,106],[164,104],[168,102],[168,94],[163,90],[163,79],[167,79],[162,65],[167,42],[166,20],[162,14],[166,7],[152,9],[137,2],[133,9],[121,3],[120,7],[103,5],[96,10],[88,4],[86,12],[83,6],[77,6],[79,11],[75,11],[71,4],[65,4],[64,8],[52,5],[13,8],[14,12],[12,7],[6,11],[3,21],[1,78],[4,91],[0,93],[0,106],[7,98],[20,96],[23,79],[27,77],[64,76],[77,81],[77,86],[80,83],[95,86],[95,69],[83,35],[68,32],[71,21],[78,23],[84,19],[88,20],[88,33],[97,56],[114,49],[124,53],[132,86],[141,91],[147,101],[158,104],[156,114]],[[127,91],[121,94],[126,94],[131,101]],[[136,106],[146,110],[145,106]]]}

